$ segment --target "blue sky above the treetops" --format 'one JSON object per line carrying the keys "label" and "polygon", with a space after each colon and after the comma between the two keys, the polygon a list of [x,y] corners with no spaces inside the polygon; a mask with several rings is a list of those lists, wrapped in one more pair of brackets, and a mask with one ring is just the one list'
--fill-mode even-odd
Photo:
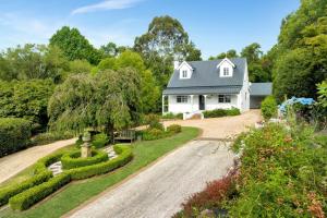
{"label": "blue sky above the treetops", "polygon": [[132,46],[154,16],[178,19],[203,57],[277,41],[281,20],[300,0],[0,0],[0,49],[47,44],[61,26],[77,27],[99,47]]}

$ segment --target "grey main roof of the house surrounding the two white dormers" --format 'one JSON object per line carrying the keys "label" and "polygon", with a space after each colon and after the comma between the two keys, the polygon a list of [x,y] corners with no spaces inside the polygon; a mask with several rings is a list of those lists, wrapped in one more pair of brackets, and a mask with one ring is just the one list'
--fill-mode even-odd
{"label": "grey main roof of the house surrounding the two white dormers", "polygon": [[191,78],[180,80],[179,71],[174,71],[167,88],[177,87],[219,87],[219,86],[242,86],[246,65],[245,58],[232,58],[231,62],[235,64],[232,77],[220,77],[217,65],[223,59],[214,61],[190,61],[193,69]]}

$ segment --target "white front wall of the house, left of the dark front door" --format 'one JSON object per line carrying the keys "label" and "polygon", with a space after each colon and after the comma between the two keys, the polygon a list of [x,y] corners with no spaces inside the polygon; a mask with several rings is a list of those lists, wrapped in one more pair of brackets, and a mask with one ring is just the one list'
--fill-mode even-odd
{"label": "white front wall of the house, left of the dark front door", "polygon": [[193,96],[193,106],[191,96],[187,95],[187,102],[177,102],[177,96],[168,96],[168,112],[181,113],[181,112],[193,112],[198,110],[198,96]]}

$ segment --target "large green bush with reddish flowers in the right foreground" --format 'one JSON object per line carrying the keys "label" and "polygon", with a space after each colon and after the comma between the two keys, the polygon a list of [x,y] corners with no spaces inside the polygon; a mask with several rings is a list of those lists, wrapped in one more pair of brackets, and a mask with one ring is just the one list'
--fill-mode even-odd
{"label": "large green bush with reddish flowers in the right foreground", "polygon": [[326,146],[303,125],[268,124],[244,137],[231,217],[322,217],[326,211]]}

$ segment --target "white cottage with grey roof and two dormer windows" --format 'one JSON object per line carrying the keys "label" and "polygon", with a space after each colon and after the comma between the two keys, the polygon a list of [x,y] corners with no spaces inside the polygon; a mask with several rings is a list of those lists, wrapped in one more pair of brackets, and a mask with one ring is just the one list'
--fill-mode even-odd
{"label": "white cottage with grey roof and two dormer windows", "polygon": [[[247,111],[251,85],[255,84],[249,82],[245,58],[174,62],[174,72],[162,93],[162,113],[195,114],[232,107]],[[271,93],[271,84],[268,87]]]}

